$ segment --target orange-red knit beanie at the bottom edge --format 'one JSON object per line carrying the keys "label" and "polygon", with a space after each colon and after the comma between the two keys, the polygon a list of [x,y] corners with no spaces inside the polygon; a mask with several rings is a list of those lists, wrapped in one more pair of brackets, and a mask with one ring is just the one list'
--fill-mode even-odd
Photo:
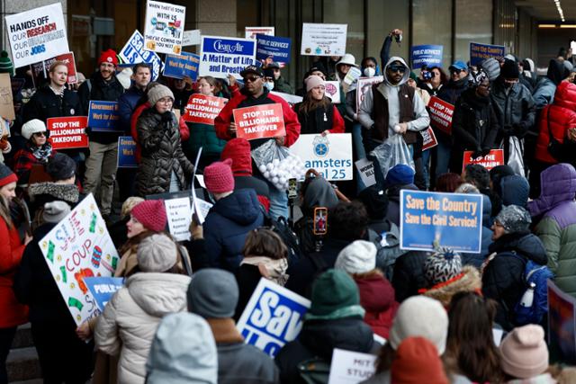
{"label": "orange-red knit beanie at the bottom edge", "polygon": [[392,362],[394,384],[448,384],[446,372],[434,344],[424,337],[407,337]]}

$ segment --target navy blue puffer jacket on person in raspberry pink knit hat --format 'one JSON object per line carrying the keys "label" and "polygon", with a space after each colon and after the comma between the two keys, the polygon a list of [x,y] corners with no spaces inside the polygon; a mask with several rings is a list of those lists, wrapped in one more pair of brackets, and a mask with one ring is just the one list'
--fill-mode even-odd
{"label": "navy blue puffer jacket on person in raspberry pink knit hat", "polygon": [[236,272],[247,233],[263,224],[264,215],[252,189],[238,190],[216,201],[203,225],[211,267]]}

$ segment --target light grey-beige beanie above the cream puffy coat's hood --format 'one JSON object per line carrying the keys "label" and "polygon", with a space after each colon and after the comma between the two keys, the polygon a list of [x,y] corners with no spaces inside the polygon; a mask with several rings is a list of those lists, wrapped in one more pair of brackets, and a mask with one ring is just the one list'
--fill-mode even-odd
{"label": "light grey-beige beanie above the cream puffy coat's hood", "polygon": [[156,234],[140,242],[136,258],[142,272],[166,272],[175,266],[177,254],[176,245],[170,237]]}

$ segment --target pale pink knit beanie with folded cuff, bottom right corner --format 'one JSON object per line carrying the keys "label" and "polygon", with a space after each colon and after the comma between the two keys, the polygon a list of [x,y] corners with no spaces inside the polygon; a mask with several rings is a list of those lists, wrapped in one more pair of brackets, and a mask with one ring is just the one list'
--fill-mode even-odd
{"label": "pale pink knit beanie with folded cuff, bottom right corner", "polygon": [[541,375],[548,368],[548,347],[542,326],[514,328],[500,344],[502,371],[517,379]]}

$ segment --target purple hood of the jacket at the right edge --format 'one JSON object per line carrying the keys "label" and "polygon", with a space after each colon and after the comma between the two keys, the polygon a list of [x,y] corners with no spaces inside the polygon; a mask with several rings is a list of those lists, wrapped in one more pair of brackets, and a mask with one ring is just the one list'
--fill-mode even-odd
{"label": "purple hood of the jacket at the right edge", "polygon": [[539,216],[576,195],[576,169],[570,164],[556,164],[540,174],[542,192],[535,201],[528,202],[530,215]]}

